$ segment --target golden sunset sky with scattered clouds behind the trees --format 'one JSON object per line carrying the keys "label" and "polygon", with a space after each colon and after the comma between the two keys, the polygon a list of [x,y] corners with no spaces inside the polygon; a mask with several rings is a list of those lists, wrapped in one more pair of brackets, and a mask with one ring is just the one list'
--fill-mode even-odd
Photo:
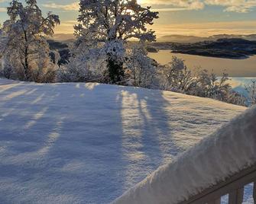
{"label": "golden sunset sky with scattered clouds behind the trees", "polygon": [[[22,0],[21,2],[23,2]],[[0,23],[8,17],[9,0],[0,0]],[[56,33],[73,33],[79,4],[77,0],[37,0],[46,14],[60,15]],[[159,19],[151,29],[157,37],[166,35],[210,36],[213,34],[256,34],[256,0],[138,0],[159,11]]]}

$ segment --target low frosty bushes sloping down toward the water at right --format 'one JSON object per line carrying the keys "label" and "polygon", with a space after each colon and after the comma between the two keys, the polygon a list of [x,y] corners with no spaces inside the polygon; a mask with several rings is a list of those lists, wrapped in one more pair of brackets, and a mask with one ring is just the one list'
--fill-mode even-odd
{"label": "low frosty bushes sloping down toward the water at right", "polygon": [[217,77],[206,69],[197,69],[192,74],[183,59],[173,56],[170,63],[160,66],[158,73],[160,89],[176,91],[199,97],[222,100],[229,104],[246,105],[246,99],[234,91],[228,83],[228,74]]}

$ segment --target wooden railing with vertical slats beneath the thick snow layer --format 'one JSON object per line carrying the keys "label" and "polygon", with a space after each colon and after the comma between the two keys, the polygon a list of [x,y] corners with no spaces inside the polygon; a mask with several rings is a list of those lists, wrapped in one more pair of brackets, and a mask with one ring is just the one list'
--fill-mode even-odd
{"label": "wooden railing with vertical slats beneath the thick snow layer", "polygon": [[225,195],[228,195],[228,204],[241,204],[244,188],[249,183],[254,183],[253,198],[256,204],[256,164],[180,204],[220,204]]}

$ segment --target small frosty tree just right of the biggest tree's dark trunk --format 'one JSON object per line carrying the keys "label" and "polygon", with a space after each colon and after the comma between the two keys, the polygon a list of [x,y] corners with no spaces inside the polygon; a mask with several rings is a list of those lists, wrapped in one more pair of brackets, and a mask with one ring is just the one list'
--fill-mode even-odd
{"label": "small frosty tree just right of the biggest tree's dark trunk", "polygon": [[125,65],[133,86],[151,88],[156,77],[156,66],[153,60],[147,56],[143,44],[131,46]]}

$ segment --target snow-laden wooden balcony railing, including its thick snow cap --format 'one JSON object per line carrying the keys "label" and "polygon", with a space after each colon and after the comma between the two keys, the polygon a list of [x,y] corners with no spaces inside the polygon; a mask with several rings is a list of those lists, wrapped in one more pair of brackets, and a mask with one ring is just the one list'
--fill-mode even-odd
{"label": "snow-laden wooden balcony railing, including its thick snow cap", "polygon": [[256,203],[256,107],[160,167],[115,204],[241,204],[250,183],[246,203]]}

